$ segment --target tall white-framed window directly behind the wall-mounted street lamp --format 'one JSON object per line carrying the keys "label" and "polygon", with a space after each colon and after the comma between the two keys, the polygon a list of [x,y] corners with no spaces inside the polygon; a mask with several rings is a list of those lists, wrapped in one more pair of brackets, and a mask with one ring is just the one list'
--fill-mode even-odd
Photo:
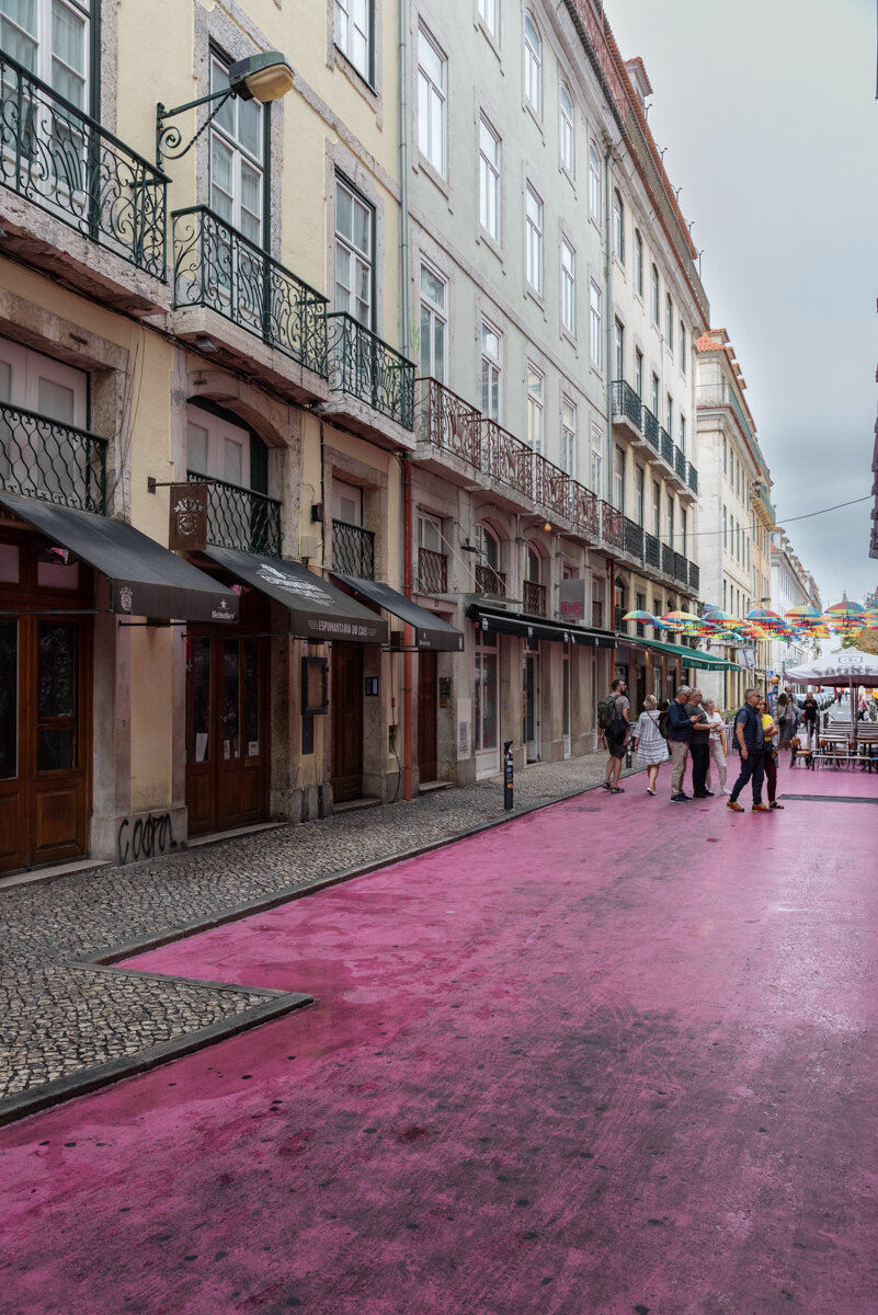
{"label": "tall white-framed window directly behind the wall-mounted street lamp", "polygon": [[[229,71],[210,59],[210,91],[229,85]],[[210,209],[262,246],[264,192],[264,108],[233,96],[210,125]]]}

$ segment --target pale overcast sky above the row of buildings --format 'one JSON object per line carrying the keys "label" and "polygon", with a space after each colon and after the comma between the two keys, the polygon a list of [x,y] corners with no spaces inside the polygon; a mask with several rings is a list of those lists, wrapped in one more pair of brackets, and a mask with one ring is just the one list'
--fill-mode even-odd
{"label": "pale overcast sky above the row of buildings", "polygon": [[[878,586],[875,0],[606,0],[653,87],[649,126],[703,247],[769,463],[824,606]],[[706,525],[701,526],[707,529]]]}

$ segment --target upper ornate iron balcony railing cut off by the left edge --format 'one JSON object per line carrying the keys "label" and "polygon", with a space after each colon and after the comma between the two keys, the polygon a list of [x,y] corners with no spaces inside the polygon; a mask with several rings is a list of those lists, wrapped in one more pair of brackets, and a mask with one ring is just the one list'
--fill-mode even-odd
{"label": "upper ornate iron balcony railing cut off by the left edge", "polygon": [[164,281],[167,175],[7,54],[0,183]]}

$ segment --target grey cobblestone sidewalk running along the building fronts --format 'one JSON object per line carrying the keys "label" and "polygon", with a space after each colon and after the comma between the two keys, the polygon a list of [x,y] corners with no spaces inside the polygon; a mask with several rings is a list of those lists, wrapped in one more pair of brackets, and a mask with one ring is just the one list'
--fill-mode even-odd
{"label": "grey cobblestone sidewalk running along the building fronts", "polygon": [[[599,752],[528,767],[517,773],[515,813],[599,784],[605,765]],[[624,809],[624,800],[618,803]],[[108,973],[71,960],[208,922],[225,909],[502,815],[498,776],[410,803],[275,827],[129,867],[0,886],[0,1098],[137,1056],[264,1002],[242,989]]]}

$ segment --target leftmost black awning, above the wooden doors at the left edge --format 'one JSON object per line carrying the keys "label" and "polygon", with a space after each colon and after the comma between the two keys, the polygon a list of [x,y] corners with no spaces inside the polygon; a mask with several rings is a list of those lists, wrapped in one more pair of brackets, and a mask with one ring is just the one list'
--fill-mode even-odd
{"label": "leftmost black awning, above the wooden doors at the left edge", "polygon": [[110,611],[170,621],[237,621],[238,600],[127,521],[0,490],[0,506],[110,583]]}

